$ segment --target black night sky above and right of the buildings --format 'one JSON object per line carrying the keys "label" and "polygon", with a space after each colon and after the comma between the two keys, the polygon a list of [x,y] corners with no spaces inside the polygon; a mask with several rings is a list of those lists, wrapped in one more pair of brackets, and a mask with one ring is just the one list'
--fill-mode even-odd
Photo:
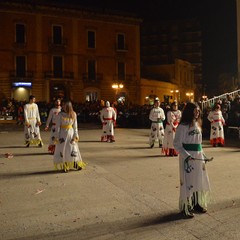
{"label": "black night sky above and right of the buildings", "polygon": [[[53,0],[52,0],[53,1]],[[212,87],[222,73],[237,74],[236,0],[57,0],[102,10],[134,13],[144,19],[198,17],[202,23],[203,81]]]}

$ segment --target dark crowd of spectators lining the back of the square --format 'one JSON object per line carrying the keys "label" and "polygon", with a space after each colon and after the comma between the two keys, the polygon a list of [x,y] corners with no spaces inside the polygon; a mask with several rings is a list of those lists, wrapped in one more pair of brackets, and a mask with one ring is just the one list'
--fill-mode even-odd
{"label": "dark crowd of spectators lining the back of the square", "polygon": [[[221,106],[223,117],[227,126],[240,127],[240,96],[235,98],[228,96],[224,99],[217,101]],[[0,105],[0,119],[16,120],[17,124],[23,124],[23,107],[26,102],[16,101],[14,99],[3,99]],[[53,107],[53,103],[37,102],[41,121],[44,124],[47,120],[48,113]],[[77,113],[78,123],[96,123],[101,124],[99,114],[103,107],[102,101],[85,102],[85,103],[73,103],[74,110]],[[180,104],[181,110],[184,103]],[[150,127],[149,112],[152,108],[151,105],[134,105],[134,104],[117,104],[114,106],[117,109],[117,125],[119,127],[129,128],[148,128]],[[168,111],[169,104],[161,103],[161,107],[165,113]],[[207,115],[212,106],[208,106],[203,109],[203,128],[209,131],[210,123],[207,120]]]}

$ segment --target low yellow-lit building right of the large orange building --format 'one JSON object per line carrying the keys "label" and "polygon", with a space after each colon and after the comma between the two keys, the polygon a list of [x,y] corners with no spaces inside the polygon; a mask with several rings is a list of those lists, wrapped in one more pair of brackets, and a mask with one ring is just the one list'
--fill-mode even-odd
{"label": "low yellow-lit building right of the large orange building", "polygon": [[154,96],[161,102],[192,102],[195,100],[194,66],[181,59],[174,64],[144,66],[146,79],[141,79],[141,104]]}

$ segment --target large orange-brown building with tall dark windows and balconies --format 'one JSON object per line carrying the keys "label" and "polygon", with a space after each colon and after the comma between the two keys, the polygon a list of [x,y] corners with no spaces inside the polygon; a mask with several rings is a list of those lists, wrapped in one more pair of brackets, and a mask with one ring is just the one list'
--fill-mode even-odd
{"label": "large orange-brown building with tall dark windows and balconies", "polygon": [[14,0],[0,15],[0,98],[140,102],[140,19]]}

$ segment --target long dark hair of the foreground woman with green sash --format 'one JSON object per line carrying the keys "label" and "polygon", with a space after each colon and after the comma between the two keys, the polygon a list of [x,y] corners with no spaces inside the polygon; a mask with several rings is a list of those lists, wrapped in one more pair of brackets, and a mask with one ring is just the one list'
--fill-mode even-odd
{"label": "long dark hair of the foreground woman with green sash", "polygon": [[181,118],[180,124],[191,126],[193,125],[193,122],[195,120],[196,122],[198,122],[199,127],[202,126],[201,112],[199,112],[199,116],[197,119],[194,118],[195,108],[198,108],[200,111],[200,108],[196,103],[189,102],[186,104],[182,112],[182,118]]}

